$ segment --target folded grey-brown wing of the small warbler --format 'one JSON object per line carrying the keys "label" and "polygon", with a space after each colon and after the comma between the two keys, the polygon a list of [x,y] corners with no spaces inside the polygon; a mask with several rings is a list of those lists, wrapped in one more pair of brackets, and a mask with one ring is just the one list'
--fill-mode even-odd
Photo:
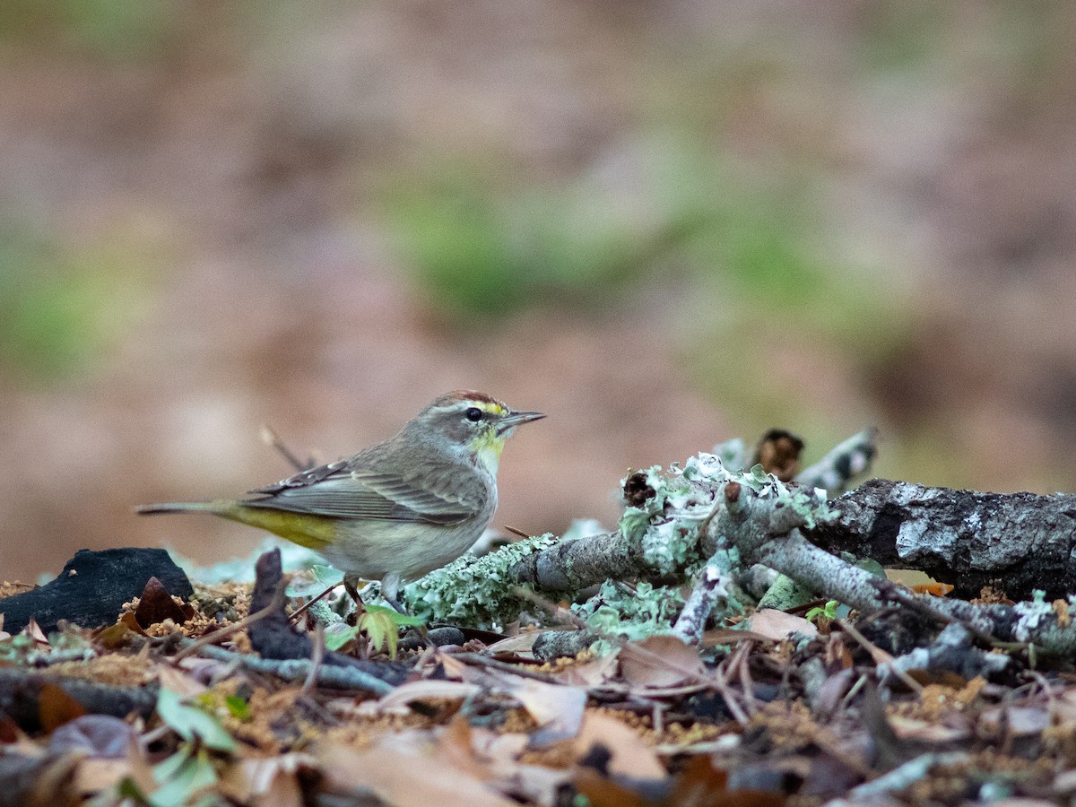
{"label": "folded grey-brown wing of the small warbler", "polygon": [[487,498],[484,486],[478,486],[477,495],[461,495],[454,478],[458,469],[451,475],[404,475],[330,463],[252,491],[241,504],[334,519],[449,525],[477,515]]}

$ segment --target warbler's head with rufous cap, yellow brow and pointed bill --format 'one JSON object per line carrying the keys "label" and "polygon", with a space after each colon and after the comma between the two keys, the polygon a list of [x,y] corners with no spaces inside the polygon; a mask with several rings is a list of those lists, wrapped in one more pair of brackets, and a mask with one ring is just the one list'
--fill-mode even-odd
{"label": "warbler's head with rufous cap, yellow brow and pointed bill", "polygon": [[500,452],[512,430],[544,416],[541,412],[516,412],[485,393],[457,390],[437,398],[412,423],[443,437],[496,476]]}

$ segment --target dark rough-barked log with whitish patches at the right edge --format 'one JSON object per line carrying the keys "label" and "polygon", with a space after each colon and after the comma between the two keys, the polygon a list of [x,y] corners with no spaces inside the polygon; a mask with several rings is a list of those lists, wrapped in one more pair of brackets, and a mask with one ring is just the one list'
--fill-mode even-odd
{"label": "dark rough-barked log with whitish patches at the right edge", "polygon": [[830,552],[910,568],[975,597],[1076,592],[1076,495],[976,493],[876,479],[833,501],[839,519],[810,532]]}

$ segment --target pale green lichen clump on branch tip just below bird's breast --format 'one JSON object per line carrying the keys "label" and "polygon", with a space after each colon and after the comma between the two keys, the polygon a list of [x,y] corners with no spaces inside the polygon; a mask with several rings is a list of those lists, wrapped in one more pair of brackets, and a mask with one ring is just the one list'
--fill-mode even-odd
{"label": "pale green lichen clump on branch tip just below bird's breast", "polygon": [[427,622],[449,622],[485,629],[519,619],[534,604],[512,589],[515,564],[556,544],[550,533],[509,543],[481,557],[464,555],[404,589],[408,610]]}

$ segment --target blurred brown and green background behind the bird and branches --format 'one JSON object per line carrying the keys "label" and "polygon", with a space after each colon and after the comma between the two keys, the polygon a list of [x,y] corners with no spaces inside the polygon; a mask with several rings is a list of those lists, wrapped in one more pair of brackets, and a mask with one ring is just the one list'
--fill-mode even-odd
{"label": "blurred brown and green background behind the bird and branches", "polygon": [[137,502],[454,387],[549,419],[496,524],[867,424],[1076,487],[1076,4],[5,0],[0,578],[261,535]]}

